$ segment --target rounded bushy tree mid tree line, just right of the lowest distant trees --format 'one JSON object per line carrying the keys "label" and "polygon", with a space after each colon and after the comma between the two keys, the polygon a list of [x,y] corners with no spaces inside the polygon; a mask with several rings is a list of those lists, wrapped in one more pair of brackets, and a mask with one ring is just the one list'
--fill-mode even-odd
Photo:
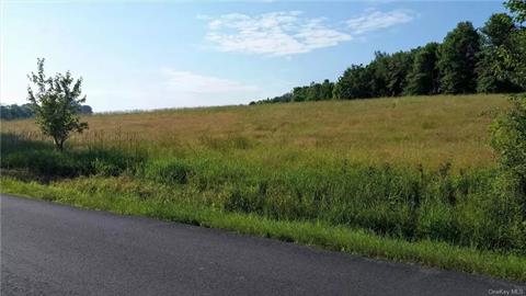
{"label": "rounded bushy tree mid tree line, just right of the lowest distant trees", "polygon": [[334,98],[352,100],[371,96],[370,71],[362,65],[353,65],[338,79]]}

